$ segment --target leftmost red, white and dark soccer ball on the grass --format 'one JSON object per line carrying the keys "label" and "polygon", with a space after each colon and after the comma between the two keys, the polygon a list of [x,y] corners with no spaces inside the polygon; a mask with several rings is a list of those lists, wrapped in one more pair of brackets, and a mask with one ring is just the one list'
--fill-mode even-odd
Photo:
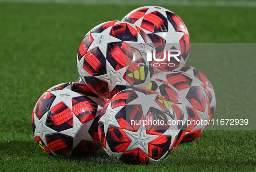
{"label": "leftmost red, white and dark soccer ball on the grass", "polygon": [[101,147],[95,93],[80,83],[62,83],[40,97],[32,114],[33,134],[45,152],[61,157],[88,156]]}

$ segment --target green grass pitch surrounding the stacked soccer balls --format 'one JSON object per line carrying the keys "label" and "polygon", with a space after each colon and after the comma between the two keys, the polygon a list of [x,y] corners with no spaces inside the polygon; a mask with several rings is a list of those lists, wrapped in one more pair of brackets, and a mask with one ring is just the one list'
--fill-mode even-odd
{"label": "green grass pitch surrounding the stacked soccer balls", "polygon": [[[255,130],[206,130],[150,165],[113,162],[103,149],[88,158],[61,159],[36,143],[32,109],[45,90],[78,78],[76,53],[83,36],[143,5],[0,2],[0,171],[256,171]],[[255,8],[164,7],[185,22],[192,43],[256,40]],[[203,59],[192,52],[187,64],[214,86],[214,117],[255,115],[256,58]]]}

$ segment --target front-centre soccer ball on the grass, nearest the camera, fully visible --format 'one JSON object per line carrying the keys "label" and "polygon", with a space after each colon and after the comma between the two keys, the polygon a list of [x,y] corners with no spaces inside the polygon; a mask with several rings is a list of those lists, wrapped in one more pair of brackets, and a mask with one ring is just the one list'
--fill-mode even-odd
{"label": "front-centre soccer ball on the grass, nearest the camera, fully visible", "polygon": [[101,111],[100,143],[119,162],[159,162],[175,146],[178,115],[171,102],[157,92],[143,88],[123,90]]}

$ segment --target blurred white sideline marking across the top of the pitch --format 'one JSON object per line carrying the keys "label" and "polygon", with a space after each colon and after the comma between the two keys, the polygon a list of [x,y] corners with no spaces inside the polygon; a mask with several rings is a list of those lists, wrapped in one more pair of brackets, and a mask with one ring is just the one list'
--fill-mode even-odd
{"label": "blurred white sideline marking across the top of the pitch", "polygon": [[77,3],[77,4],[115,4],[115,5],[175,5],[175,6],[245,6],[256,7],[256,1],[244,0],[0,0],[0,2],[29,3]]}

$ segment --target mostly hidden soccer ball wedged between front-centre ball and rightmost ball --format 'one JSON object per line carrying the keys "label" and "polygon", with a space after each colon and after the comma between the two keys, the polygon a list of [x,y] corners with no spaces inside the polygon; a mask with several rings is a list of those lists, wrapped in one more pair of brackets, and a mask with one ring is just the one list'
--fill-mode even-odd
{"label": "mostly hidden soccer ball wedged between front-centre ball and rightmost ball", "polygon": [[159,93],[161,96],[164,96],[165,99],[171,102],[171,105],[175,110],[175,114],[178,114],[177,118],[180,121],[178,123],[179,132],[176,138],[174,148],[177,147],[185,135],[188,120],[186,106],[184,102],[182,102],[180,96],[178,95],[178,90],[175,89],[174,86],[171,86],[170,84],[158,79],[155,76],[153,76],[152,81],[149,83],[146,89],[151,89]]}

